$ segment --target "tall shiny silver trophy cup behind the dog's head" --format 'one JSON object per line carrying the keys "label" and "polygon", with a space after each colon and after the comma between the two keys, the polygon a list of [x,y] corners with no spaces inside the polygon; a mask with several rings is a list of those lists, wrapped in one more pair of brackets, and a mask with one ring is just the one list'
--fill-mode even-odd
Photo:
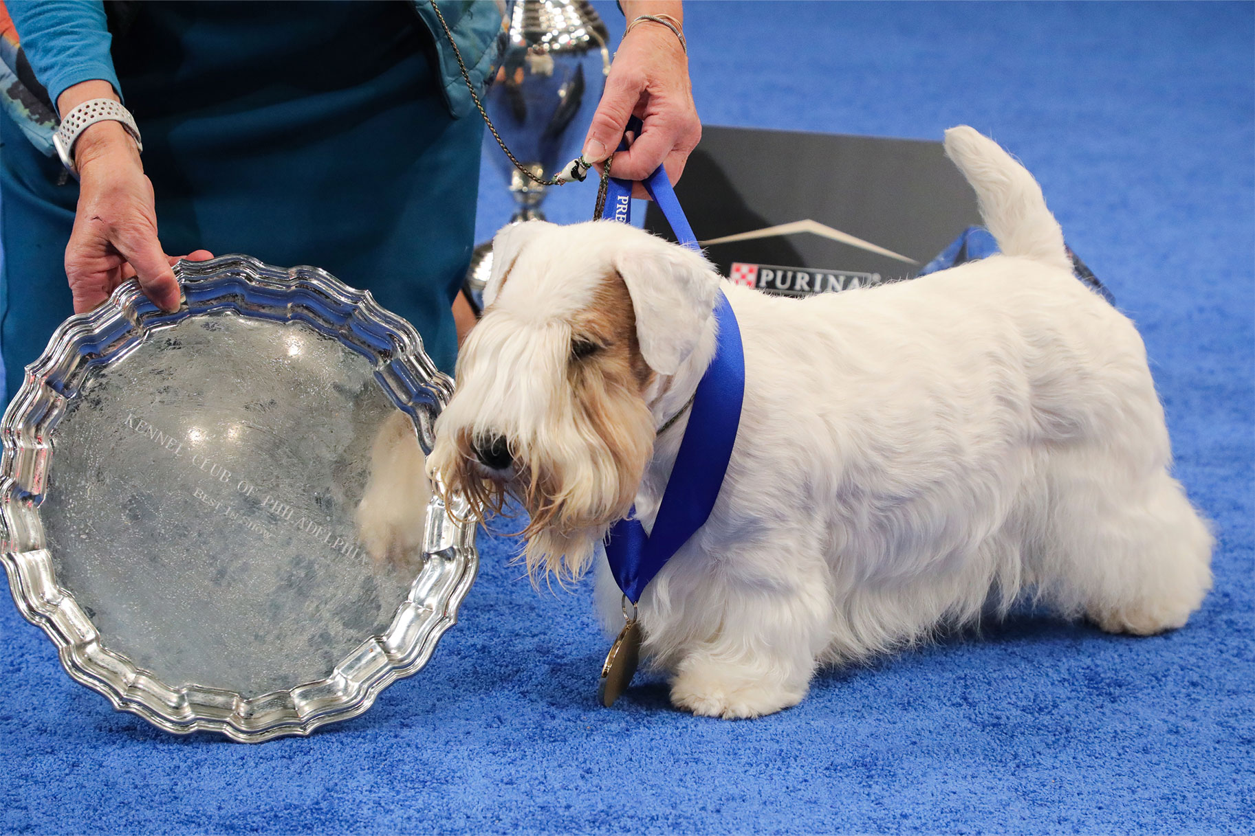
{"label": "tall shiny silver trophy cup behind the dog's head", "polygon": [[[552,179],[580,153],[610,73],[609,38],[587,0],[515,4],[506,53],[483,104],[506,147],[536,177]],[[515,198],[510,222],[543,221],[547,187],[525,177],[491,133],[484,148]],[[487,241],[476,247],[467,272],[467,290],[479,307],[491,269]]]}

